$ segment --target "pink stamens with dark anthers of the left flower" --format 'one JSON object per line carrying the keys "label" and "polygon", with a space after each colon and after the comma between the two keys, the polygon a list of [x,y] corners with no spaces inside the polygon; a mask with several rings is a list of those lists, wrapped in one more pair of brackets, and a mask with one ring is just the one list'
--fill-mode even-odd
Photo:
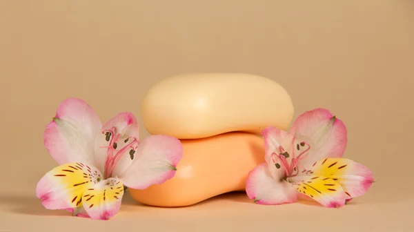
{"label": "pink stamens with dark anthers of the left flower", "polygon": [[[124,154],[128,152],[130,159],[133,160],[139,140],[137,137],[121,137],[115,126],[109,130],[103,130],[102,134],[105,135],[106,142],[109,142],[108,146],[103,147],[108,149],[103,174],[107,179],[112,177],[115,166]],[[119,146],[119,144],[123,144],[123,146]]]}

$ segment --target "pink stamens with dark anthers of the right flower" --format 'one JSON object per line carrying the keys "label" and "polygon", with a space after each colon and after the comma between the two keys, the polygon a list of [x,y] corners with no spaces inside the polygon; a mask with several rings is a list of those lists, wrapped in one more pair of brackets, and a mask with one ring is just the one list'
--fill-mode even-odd
{"label": "pink stamens with dark anthers of the right flower", "polygon": [[[299,168],[303,168],[300,164],[300,160],[303,160],[308,156],[308,151],[311,150],[311,145],[307,142],[300,142],[295,144],[295,139],[292,141],[292,157],[290,160],[290,164],[288,162],[288,158],[290,157],[289,153],[284,150],[282,146],[279,146],[279,154],[273,153],[273,157],[277,157],[279,162],[284,166],[284,171],[286,177],[294,177],[299,174]],[[306,148],[305,148],[306,146]],[[299,153],[297,156],[295,154],[295,150]],[[280,164],[273,160],[276,164],[276,168],[280,168]]]}

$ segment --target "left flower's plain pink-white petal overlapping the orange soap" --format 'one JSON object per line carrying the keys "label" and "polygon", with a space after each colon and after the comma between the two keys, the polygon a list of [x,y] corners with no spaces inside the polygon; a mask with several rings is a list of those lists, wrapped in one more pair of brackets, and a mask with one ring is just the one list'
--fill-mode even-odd
{"label": "left flower's plain pink-white petal overlapping the orange soap", "polygon": [[139,144],[132,164],[114,175],[128,188],[146,189],[174,177],[182,156],[183,147],[179,139],[168,135],[151,135]]}

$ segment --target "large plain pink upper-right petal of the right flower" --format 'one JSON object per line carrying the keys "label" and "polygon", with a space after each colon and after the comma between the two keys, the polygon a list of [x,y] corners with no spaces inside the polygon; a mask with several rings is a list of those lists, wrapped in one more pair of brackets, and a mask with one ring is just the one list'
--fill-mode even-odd
{"label": "large plain pink upper-right petal of the right flower", "polygon": [[348,142],[344,122],[324,108],[299,115],[290,128],[290,134],[295,135],[295,147],[300,149],[298,153],[308,148],[307,145],[299,146],[301,142],[311,146],[300,161],[305,168],[325,157],[342,157]]}

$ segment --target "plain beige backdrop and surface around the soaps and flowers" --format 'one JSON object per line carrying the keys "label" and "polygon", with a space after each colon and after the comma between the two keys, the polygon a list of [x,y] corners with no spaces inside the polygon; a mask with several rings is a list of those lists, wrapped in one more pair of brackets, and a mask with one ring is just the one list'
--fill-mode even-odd
{"label": "plain beige backdrop and surface around the soaps and flowers", "polygon": [[[0,0],[0,231],[411,231],[413,7],[408,0]],[[377,183],[339,210],[257,206],[243,194],[181,209],[126,197],[108,222],[43,209],[34,188],[55,161],[42,135],[60,101],[86,99],[102,121],[121,110],[139,117],[146,90],[182,72],[275,79],[293,97],[295,117],[331,109],[348,128],[346,157],[371,168]]]}

